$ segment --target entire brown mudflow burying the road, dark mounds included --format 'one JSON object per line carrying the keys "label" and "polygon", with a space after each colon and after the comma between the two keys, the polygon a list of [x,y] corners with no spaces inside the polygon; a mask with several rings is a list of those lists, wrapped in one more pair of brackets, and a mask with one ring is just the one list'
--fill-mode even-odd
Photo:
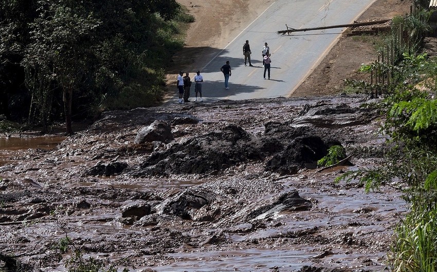
{"label": "entire brown mudflow burying the road, dark mounds included", "polygon": [[[67,270],[77,250],[119,271],[381,271],[398,184],[334,181],[384,160],[373,102],[169,104],[3,145],[0,270]],[[334,144],[347,163],[317,168]]]}

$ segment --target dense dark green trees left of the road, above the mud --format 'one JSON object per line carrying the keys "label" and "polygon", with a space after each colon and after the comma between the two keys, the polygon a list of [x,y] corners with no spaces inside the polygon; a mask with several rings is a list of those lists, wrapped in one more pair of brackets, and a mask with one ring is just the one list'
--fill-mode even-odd
{"label": "dense dark green trees left of the road, above the mud", "polygon": [[0,114],[47,126],[153,104],[179,14],[175,0],[0,0]]}

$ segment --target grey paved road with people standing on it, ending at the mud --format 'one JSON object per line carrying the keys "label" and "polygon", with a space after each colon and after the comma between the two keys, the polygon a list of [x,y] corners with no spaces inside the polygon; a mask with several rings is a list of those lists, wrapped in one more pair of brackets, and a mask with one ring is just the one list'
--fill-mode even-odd
{"label": "grey paved road with people standing on it, ending at the mud", "polygon": [[[350,24],[374,1],[275,1],[201,69],[205,80],[205,101],[287,96],[329,52],[343,29],[294,32],[289,36],[277,34],[277,31],[285,30],[285,24],[296,29]],[[229,27],[232,27],[232,22],[229,22]],[[252,51],[253,67],[244,66],[242,48],[246,40],[249,40]],[[261,49],[265,42],[271,53],[270,80],[263,79]],[[225,90],[223,73],[220,72],[227,60],[232,67],[229,90]]]}

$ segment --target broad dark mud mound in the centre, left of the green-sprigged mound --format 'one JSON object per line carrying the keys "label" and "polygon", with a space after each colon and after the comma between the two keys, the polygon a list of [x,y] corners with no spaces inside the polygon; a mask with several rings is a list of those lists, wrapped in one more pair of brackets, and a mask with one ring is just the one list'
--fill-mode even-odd
{"label": "broad dark mud mound in the centre, left of the green-sprigged mound", "polygon": [[[266,146],[271,145],[275,144],[266,143]],[[140,165],[139,175],[201,174],[222,170],[247,160],[260,160],[265,157],[262,152],[265,149],[270,147],[260,149],[244,129],[229,125],[153,153]]]}

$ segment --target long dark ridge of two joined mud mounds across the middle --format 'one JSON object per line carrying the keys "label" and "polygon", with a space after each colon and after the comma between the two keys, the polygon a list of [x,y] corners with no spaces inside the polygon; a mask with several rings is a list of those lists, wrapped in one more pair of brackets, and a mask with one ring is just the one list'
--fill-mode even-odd
{"label": "long dark ridge of two joined mud mounds across the middle", "polygon": [[228,125],[152,153],[134,176],[203,174],[269,156],[274,157],[266,162],[267,171],[296,173],[303,167],[314,168],[330,146],[339,144],[323,129],[296,128],[289,123],[269,122],[261,137]]}

